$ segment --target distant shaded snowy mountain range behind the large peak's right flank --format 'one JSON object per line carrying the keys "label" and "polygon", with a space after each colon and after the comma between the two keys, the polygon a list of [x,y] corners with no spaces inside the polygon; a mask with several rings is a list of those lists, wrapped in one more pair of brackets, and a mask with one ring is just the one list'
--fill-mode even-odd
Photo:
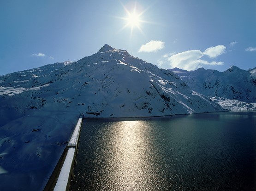
{"label": "distant shaded snowy mountain range behind the large peak's right flank", "polygon": [[204,96],[256,103],[256,67],[246,71],[232,66],[224,72],[199,68],[176,74],[192,90]]}

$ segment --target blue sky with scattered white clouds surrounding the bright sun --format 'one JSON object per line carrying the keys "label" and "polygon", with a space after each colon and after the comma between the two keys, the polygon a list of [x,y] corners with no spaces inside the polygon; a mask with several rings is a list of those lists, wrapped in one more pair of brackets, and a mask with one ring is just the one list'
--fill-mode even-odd
{"label": "blue sky with scattered white clouds surrounding the bright sun", "polygon": [[256,67],[256,0],[1,0],[0,24],[0,75],[104,44],[165,69]]}

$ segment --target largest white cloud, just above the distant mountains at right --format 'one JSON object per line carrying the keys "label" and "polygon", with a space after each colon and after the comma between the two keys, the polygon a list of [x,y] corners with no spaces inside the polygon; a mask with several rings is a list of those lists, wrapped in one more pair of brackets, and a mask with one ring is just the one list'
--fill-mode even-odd
{"label": "largest white cloud, just above the distant mountains at right", "polygon": [[215,58],[226,52],[226,47],[223,45],[218,45],[215,47],[210,47],[204,52],[199,50],[184,51],[178,54],[166,54],[162,56],[162,59],[158,60],[158,64],[161,66],[163,64],[169,63],[171,67],[179,67],[185,70],[195,70],[203,65],[223,65],[224,62],[209,62],[203,59],[203,56],[207,55],[210,58]]}

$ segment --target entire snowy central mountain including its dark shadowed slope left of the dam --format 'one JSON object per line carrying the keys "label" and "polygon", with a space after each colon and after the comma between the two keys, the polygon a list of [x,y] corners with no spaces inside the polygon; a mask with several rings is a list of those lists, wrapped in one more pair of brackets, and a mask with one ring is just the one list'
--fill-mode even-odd
{"label": "entire snowy central mountain including its dark shadowed slope left of the dam", "polygon": [[6,182],[0,190],[42,190],[81,114],[113,118],[215,111],[224,109],[173,72],[109,45],[77,62],[0,76],[0,176]]}

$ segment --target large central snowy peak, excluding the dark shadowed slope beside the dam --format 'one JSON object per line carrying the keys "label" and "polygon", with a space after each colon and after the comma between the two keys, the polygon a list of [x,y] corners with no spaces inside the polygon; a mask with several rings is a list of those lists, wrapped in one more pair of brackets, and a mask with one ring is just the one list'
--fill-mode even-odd
{"label": "large central snowy peak, excluding the dark shadowed slope beside the dam", "polygon": [[0,82],[1,107],[19,112],[76,108],[86,117],[145,117],[220,110],[174,73],[109,45],[77,62],[8,74]]}

